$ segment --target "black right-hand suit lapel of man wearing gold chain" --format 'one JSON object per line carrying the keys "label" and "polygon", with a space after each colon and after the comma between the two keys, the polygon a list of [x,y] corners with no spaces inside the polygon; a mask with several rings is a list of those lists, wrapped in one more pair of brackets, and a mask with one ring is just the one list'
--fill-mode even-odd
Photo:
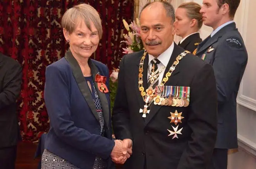
{"label": "black right-hand suit lapel of man wearing gold chain", "polygon": [[[173,52],[172,52],[172,56],[165,68],[165,72],[163,74],[163,78],[165,78],[166,73],[169,71],[170,67],[172,66],[173,62],[176,60],[177,56],[180,55],[180,53],[182,53],[184,51],[184,49],[182,49],[181,47],[177,46],[174,43],[174,48],[173,48]],[[180,60],[182,61],[182,60]],[[180,72],[180,66],[179,64],[176,66],[175,70],[172,72],[172,75],[169,77],[168,81],[165,83],[165,86],[176,86],[178,81],[179,81],[179,72]],[[162,106],[158,106],[158,105],[154,105],[153,103],[150,106],[150,113],[147,115],[147,119],[146,119],[146,124],[147,125],[149,123],[149,121],[153,118],[153,116],[155,116],[155,114],[159,111],[159,109]]]}

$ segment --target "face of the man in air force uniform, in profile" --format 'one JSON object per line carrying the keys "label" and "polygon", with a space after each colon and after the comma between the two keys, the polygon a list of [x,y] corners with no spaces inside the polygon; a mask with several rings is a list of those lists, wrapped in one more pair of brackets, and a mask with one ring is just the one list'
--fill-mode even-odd
{"label": "face of the man in air force uniform, in profile", "polygon": [[203,15],[204,25],[216,29],[219,25],[219,21],[222,18],[219,12],[220,8],[218,6],[217,0],[203,0],[203,5],[200,13]]}

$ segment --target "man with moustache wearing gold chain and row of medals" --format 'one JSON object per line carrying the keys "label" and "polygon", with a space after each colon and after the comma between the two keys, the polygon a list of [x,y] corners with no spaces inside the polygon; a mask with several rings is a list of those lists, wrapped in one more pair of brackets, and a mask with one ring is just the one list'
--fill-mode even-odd
{"label": "man with moustache wearing gold chain and row of medals", "polygon": [[127,169],[208,169],[217,134],[214,72],[173,42],[174,21],[170,3],[145,5],[140,25],[147,51],[120,63],[113,128],[129,142],[125,148],[132,145]]}

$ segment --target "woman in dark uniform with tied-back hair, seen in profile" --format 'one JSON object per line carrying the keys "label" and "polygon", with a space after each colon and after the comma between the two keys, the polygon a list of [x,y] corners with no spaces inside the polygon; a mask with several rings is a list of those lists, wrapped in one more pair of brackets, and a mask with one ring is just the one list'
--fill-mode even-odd
{"label": "woman in dark uniform with tied-back hair, seen in profile", "polygon": [[182,40],[179,46],[195,54],[197,45],[202,41],[199,29],[202,27],[201,6],[195,2],[182,3],[175,12],[177,32]]}

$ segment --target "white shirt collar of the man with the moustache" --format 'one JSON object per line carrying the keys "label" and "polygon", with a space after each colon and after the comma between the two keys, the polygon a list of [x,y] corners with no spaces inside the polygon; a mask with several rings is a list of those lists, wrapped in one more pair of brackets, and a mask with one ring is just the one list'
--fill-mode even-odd
{"label": "white shirt collar of the man with the moustache", "polygon": [[[166,67],[171,56],[172,56],[172,52],[173,52],[173,48],[174,48],[174,42],[172,42],[172,45],[169,46],[169,48],[167,48],[167,50],[165,50],[163,53],[161,53],[161,55],[159,55],[157,57],[157,59]],[[155,57],[148,54],[148,64],[150,64],[150,62],[154,59]]]}

